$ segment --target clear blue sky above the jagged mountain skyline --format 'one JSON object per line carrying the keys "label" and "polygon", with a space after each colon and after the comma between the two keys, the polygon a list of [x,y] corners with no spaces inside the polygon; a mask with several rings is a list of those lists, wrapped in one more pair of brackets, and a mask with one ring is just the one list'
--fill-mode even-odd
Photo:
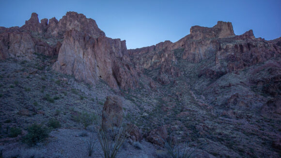
{"label": "clear blue sky above the jagged mountain skyline", "polygon": [[62,18],[75,11],[93,18],[127,48],[176,42],[191,26],[232,22],[235,34],[250,29],[266,40],[281,36],[281,0],[0,0],[0,26],[22,26],[32,12],[39,19]]}

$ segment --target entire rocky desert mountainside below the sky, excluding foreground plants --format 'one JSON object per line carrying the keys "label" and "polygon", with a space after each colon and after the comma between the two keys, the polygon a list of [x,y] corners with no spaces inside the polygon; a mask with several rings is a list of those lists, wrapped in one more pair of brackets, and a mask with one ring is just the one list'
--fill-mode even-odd
{"label": "entire rocky desert mountainside below the sky, excluding foreground plants", "polygon": [[[191,27],[175,43],[128,50],[82,14],[39,22],[32,13],[22,27],[0,27],[0,107],[4,158],[31,149],[46,158],[87,157],[84,140],[97,138],[95,124],[76,118],[88,113],[106,128],[131,127],[120,158],[165,157],[171,133],[198,148],[195,157],[278,158],[281,38],[235,35],[232,23],[218,21]],[[46,142],[20,141],[28,126],[53,118],[62,126]],[[10,138],[15,127],[21,134]],[[101,153],[98,146],[94,156]]]}

